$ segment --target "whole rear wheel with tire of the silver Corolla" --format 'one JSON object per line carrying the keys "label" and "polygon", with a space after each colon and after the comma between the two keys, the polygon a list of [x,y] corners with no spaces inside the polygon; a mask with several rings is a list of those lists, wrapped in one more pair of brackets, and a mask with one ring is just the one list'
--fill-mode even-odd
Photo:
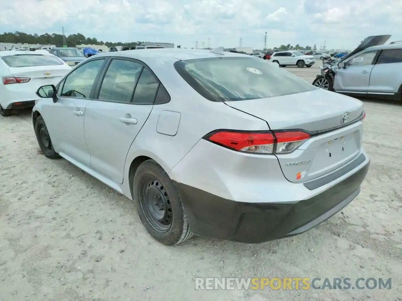
{"label": "whole rear wheel with tire of the silver Corolla", "polygon": [[132,191],[138,216],[155,240],[173,246],[194,236],[176,186],[154,160],[139,165]]}

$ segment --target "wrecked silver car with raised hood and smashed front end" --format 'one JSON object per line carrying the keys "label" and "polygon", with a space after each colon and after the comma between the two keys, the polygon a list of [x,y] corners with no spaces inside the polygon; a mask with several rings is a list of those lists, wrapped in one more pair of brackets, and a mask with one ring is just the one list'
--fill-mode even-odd
{"label": "wrecked silver car with raised hood and smashed front end", "polygon": [[366,38],[313,84],[354,97],[402,100],[402,44],[384,45],[390,37]]}

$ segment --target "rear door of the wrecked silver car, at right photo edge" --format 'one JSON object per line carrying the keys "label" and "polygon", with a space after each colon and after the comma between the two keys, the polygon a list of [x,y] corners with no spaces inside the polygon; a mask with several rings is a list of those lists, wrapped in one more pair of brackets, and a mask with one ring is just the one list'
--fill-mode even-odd
{"label": "rear door of the wrecked silver car, at right photo edge", "polygon": [[393,95],[402,81],[402,48],[383,49],[370,75],[367,93]]}

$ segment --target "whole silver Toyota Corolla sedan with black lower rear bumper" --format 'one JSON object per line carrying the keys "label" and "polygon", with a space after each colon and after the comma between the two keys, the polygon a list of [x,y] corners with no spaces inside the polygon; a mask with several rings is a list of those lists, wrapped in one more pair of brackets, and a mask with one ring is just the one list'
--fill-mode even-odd
{"label": "whole silver Toyota Corolla sedan with black lower rear bumper", "polygon": [[369,168],[362,102],[222,47],[98,54],[37,95],[43,154],[132,199],[166,245],[300,234]]}

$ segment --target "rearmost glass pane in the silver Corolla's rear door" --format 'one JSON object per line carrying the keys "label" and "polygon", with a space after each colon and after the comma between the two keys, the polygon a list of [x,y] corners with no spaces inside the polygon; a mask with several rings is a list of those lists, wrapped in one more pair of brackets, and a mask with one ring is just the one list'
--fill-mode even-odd
{"label": "rearmost glass pane in the silver Corolla's rear door", "polygon": [[133,103],[153,104],[158,87],[159,81],[148,68],[144,68],[135,87]]}

